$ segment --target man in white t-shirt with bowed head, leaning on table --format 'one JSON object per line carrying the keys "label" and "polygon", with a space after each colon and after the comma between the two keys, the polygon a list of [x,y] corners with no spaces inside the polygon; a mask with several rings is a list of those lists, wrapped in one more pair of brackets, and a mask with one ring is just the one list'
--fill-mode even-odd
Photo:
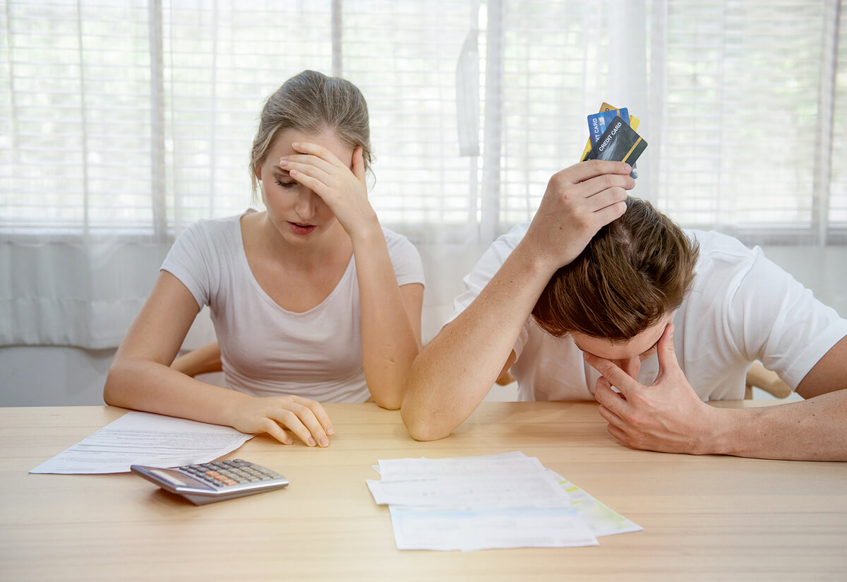
{"label": "man in white t-shirt with bowed head, leaning on table", "polygon": [[[847,320],[761,250],[628,198],[629,171],[562,170],[532,222],[491,245],[412,365],[410,434],[449,435],[511,369],[522,400],[596,399],[634,448],[847,460]],[[756,359],[806,400],[703,402],[742,398]]]}

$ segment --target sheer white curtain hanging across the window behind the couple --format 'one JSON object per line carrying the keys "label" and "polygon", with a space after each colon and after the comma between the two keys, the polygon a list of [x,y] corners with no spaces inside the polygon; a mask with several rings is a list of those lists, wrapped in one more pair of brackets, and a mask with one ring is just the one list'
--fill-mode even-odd
{"label": "sheer white curtain hanging across the window behind the couple", "polygon": [[302,69],[368,99],[370,196],[424,256],[425,339],[602,102],[650,144],[635,194],[684,226],[847,240],[835,0],[0,6],[0,345],[116,346],[174,236],[247,207],[257,114]]}

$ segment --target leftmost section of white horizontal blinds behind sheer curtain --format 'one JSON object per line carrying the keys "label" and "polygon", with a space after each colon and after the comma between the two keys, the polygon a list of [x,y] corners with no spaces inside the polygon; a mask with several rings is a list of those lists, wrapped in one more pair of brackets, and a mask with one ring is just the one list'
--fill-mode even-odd
{"label": "leftmost section of white horizontal blinds behind sheer curtain", "polygon": [[0,228],[149,236],[147,3],[4,8]]}

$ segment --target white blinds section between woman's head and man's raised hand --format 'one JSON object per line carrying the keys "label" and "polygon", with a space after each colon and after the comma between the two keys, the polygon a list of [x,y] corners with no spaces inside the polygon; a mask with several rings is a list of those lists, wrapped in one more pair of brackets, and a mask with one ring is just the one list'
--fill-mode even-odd
{"label": "white blinds section between woman's head and man's raised hand", "polygon": [[415,241],[463,239],[475,183],[475,159],[460,157],[457,130],[456,70],[468,2],[341,5],[343,74],[368,101],[375,154],[369,196],[380,221]]}

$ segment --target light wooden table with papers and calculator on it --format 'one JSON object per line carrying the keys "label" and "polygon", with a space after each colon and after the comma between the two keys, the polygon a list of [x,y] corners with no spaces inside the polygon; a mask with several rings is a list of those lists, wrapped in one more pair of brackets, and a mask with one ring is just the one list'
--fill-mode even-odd
{"label": "light wooden table with papers and calculator on it", "polygon": [[[326,405],[326,449],[257,436],[228,457],[281,491],[196,507],[132,474],[28,474],[125,411],[0,409],[0,579],[847,579],[847,463],[633,451],[593,402],[484,402],[413,441],[397,412]],[[644,531],[599,547],[400,552],[366,479],[380,458],[522,451]]]}

